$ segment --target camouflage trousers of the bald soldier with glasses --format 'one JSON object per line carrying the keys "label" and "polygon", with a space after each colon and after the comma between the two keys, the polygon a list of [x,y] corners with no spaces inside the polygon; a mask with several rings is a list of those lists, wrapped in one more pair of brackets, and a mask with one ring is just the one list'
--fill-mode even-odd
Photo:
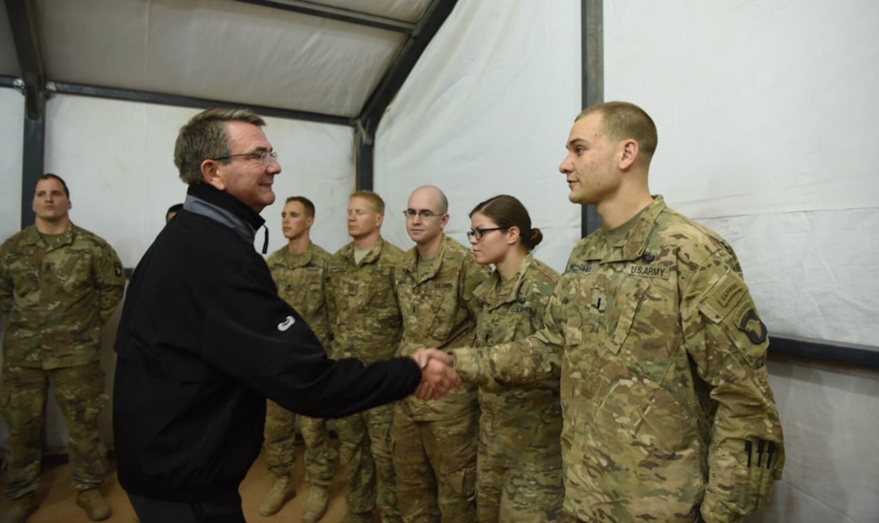
{"label": "camouflage trousers of the bald soldier with glasses", "polygon": [[405,523],[476,521],[476,424],[479,410],[440,421],[394,413],[394,469]]}

